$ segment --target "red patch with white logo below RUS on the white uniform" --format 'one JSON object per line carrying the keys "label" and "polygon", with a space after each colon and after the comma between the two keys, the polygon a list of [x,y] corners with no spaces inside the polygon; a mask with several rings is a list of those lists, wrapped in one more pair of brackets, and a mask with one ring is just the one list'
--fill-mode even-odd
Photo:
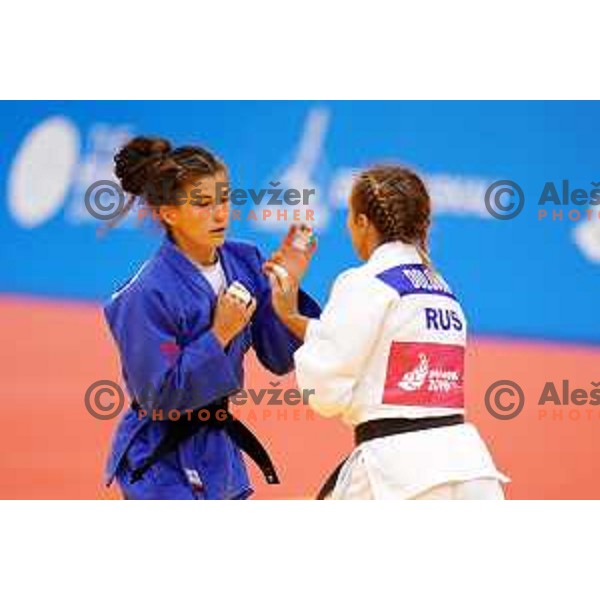
{"label": "red patch with white logo below RUS on the white uniform", "polygon": [[383,403],[463,408],[464,356],[463,346],[392,342]]}

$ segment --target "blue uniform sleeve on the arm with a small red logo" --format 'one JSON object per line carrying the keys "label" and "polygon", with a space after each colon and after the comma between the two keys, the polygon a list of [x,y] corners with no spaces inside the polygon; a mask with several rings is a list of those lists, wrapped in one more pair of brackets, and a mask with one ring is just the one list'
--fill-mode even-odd
{"label": "blue uniform sleeve on the arm with a small red logo", "polygon": [[[210,329],[176,345],[179,311],[169,302],[159,290],[134,284],[105,308],[132,397],[143,408],[183,412],[238,391],[239,375]],[[175,355],[165,351],[173,347]]]}

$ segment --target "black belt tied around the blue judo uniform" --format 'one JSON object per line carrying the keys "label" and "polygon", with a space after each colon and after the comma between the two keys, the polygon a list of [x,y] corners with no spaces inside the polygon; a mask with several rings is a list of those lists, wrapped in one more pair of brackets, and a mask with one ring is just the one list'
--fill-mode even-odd
{"label": "black belt tied around the blue judo uniform", "polygon": [[[132,402],[131,407],[137,411],[139,410],[140,405],[134,401]],[[209,411],[210,416],[206,419],[200,419],[198,413],[206,410]],[[225,410],[225,418],[218,412],[223,410]],[[277,476],[275,466],[273,465],[268,452],[254,433],[229,412],[226,398],[193,411],[187,420],[169,421],[167,432],[159,441],[154,451],[139,467],[132,470],[131,483],[139,481],[152,465],[169,452],[173,452],[179,444],[198,433],[203,427],[224,429],[233,443],[256,463],[267,483],[279,483],[279,477]],[[124,457],[124,460],[127,460],[127,458]]]}

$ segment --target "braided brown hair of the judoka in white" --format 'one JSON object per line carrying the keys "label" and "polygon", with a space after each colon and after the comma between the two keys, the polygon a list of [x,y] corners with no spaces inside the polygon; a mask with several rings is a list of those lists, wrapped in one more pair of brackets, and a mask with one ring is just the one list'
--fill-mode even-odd
{"label": "braided brown hair of the judoka in white", "polygon": [[418,175],[396,165],[372,167],[357,177],[350,198],[354,212],[369,219],[381,243],[414,244],[431,266],[427,243],[431,200]]}

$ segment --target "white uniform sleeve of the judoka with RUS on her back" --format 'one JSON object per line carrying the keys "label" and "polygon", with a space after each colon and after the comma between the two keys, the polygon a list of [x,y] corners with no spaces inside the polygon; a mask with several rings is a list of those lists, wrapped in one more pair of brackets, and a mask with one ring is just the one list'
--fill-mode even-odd
{"label": "white uniform sleeve of the judoka with RUS on her back", "polygon": [[356,269],[342,273],[321,317],[310,320],[304,345],[294,354],[298,385],[314,390],[310,405],[325,417],[347,408],[380,336],[392,298],[373,286],[379,282]]}

